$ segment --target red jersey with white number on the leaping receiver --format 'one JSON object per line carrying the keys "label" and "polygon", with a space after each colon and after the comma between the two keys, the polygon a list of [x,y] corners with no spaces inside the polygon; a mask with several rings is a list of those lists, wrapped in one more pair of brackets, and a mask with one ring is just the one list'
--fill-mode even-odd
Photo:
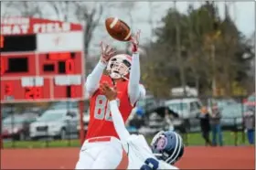
{"label": "red jersey with white number on the leaping receiver", "polygon": [[[100,83],[107,81],[111,86],[112,80],[109,76],[102,75]],[[116,83],[117,100],[119,101],[119,110],[122,112],[123,121],[126,122],[133,106],[128,95],[128,81],[118,81]],[[90,100],[90,122],[86,139],[99,136],[114,136],[119,138],[113,123],[109,108],[109,101],[101,93],[101,90],[96,90]]]}

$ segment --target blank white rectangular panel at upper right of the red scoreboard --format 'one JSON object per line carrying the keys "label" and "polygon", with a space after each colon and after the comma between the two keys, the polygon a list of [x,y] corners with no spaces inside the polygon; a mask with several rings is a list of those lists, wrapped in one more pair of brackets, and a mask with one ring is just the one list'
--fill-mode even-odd
{"label": "blank white rectangular panel at upper right of the red scoreboard", "polygon": [[37,34],[37,51],[76,51],[83,48],[81,31],[55,34]]}

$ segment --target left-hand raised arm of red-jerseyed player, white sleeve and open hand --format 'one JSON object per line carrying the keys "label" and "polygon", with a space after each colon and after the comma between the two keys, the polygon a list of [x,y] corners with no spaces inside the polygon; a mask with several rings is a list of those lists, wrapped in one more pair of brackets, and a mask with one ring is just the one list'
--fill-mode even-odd
{"label": "left-hand raised arm of red-jerseyed player, white sleeve and open hand", "polygon": [[88,92],[89,96],[91,96],[95,90],[99,89],[103,70],[106,68],[109,59],[112,58],[114,54],[115,50],[113,48],[109,45],[104,45],[101,42],[101,59],[85,82],[85,90]]}

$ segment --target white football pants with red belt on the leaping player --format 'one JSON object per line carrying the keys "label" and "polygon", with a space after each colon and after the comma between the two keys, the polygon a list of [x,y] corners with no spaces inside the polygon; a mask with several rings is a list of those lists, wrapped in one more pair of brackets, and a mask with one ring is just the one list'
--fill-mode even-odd
{"label": "white football pants with red belt on the leaping player", "polygon": [[97,137],[83,143],[76,169],[125,169],[127,166],[127,154],[117,138]]}

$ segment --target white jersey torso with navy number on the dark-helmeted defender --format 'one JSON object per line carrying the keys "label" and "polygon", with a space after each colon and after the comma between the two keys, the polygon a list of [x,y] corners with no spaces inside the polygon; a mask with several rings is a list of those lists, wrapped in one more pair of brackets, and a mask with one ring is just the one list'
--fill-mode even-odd
{"label": "white jersey torso with navy number on the dark-helmeted defender", "polygon": [[143,135],[131,135],[123,146],[129,157],[128,169],[178,169],[176,166],[157,160]]}

